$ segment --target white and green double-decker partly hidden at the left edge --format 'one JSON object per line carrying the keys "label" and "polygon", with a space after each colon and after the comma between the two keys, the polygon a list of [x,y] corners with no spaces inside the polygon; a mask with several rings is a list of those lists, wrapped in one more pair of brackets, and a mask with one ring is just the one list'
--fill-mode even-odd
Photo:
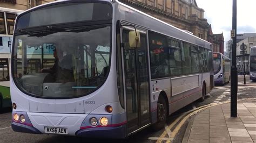
{"label": "white and green double-decker partly hidden at the left edge", "polygon": [[16,13],[21,10],[0,7],[0,111],[2,108],[11,107],[10,96],[10,58],[12,34]]}

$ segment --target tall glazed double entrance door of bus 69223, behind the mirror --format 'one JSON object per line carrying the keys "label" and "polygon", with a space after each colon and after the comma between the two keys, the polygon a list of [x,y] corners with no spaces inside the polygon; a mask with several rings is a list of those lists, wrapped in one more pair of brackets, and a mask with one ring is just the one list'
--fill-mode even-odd
{"label": "tall glazed double entrance door of bus 69223, behind the mirror", "polygon": [[129,47],[129,30],[123,28],[123,63],[126,93],[127,133],[150,123],[147,34],[140,32],[140,47]]}

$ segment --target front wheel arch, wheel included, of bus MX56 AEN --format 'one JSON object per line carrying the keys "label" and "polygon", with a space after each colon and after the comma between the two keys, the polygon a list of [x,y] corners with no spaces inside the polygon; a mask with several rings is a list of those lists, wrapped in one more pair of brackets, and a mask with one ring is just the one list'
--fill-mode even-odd
{"label": "front wheel arch, wheel included, of bus MX56 AEN", "polygon": [[161,91],[157,100],[157,122],[152,125],[154,131],[165,127],[166,118],[169,115],[168,98],[164,91]]}

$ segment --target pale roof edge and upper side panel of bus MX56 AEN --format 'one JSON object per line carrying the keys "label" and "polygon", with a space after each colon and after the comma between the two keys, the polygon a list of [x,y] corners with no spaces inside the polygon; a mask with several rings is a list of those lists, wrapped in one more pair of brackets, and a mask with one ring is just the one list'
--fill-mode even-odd
{"label": "pale roof edge and upper side panel of bus MX56 AEN", "polygon": [[[126,5],[122,2],[119,2],[118,0],[98,0],[98,1],[95,1],[95,2],[110,2],[112,3],[113,5],[116,3],[116,8],[119,8],[119,6],[123,6],[123,8],[120,8],[120,11],[132,11],[132,15],[133,16],[130,16],[130,17],[125,17],[127,19],[124,19],[126,20],[127,22],[131,22],[133,24],[137,24],[138,26],[143,26],[143,27],[146,27],[147,29],[150,29],[152,31],[155,31],[155,32],[158,32],[158,33],[161,33],[161,34],[165,34],[165,35],[168,35],[169,37],[172,37],[172,38],[176,38],[178,40],[182,40],[182,41],[185,41],[185,42],[190,42],[191,44],[194,44],[194,45],[197,45],[197,46],[201,46],[201,47],[206,47],[208,49],[212,49],[211,48],[211,43],[204,40],[204,39],[201,39],[199,37],[196,37],[195,35],[193,35],[192,33],[190,32],[186,32],[184,30],[181,30],[177,27],[174,27],[166,22],[163,22],[162,20],[159,20],[155,17],[152,17],[142,11],[139,11],[137,9],[134,9],[132,8],[131,6],[129,5]],[[41,6],[45,6],[45,5],[50,5],[52,3],[60,3],[60,2],[93,2],[92,1],[86,1],[86,0],[76,0],[76,1],[73,1],[73,0],[61,0],[61,1],[55,1],[55,2],[51,2],[51,3],[45,3],[43,5],[39,5],[39,6],[36,6],[32,9],[29,9],[29,10],[26,10],[25,12],[30,12],[30,11],[33,11]],[[24,13],[25,13],[24,12]],[[124,12],[118,12],[118,13],[115,13],[116,16],[117,15],[125,15],[126,13]],[[137,16],[137,17],[136,17]],[[120,18],[123,18],[123,16],[120,16]],[[135,18],[134,18],[135,17]],[[130,18],[130,19],[129,19]],[[122,20],[122,19],[120,19]],[[145,23],[145,21],[150,21],[150,22],[147,22]],[[158,25],[158,26],[156,26]]]}

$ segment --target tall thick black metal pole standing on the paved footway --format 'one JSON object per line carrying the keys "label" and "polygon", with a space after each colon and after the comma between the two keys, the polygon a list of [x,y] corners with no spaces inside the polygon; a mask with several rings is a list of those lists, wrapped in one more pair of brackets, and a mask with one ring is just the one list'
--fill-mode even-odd
{"label": "tall thick black metal pole standing on the paved footway", "polygon": [[237,0],[233,0],[232,30],[234,30],[232,44],[231,66],[231,117],[237,117]]}

